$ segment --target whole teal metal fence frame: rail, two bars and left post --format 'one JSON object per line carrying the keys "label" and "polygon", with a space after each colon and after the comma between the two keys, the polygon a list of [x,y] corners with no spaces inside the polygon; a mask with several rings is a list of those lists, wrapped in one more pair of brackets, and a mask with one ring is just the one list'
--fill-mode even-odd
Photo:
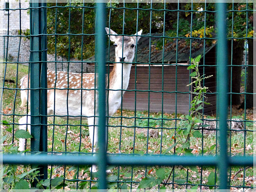
{"label": "whole teal metal fence frame: rail, two bars and left post", "polygon": [[[46,3],[38,3],[32,1],[31,3],[31,78],[34,79],[34,83],[31,84],[31,127],[32,135],[32,151],[47,152],[47,139],[40,138],[40,135],[47,136],[47,85],[46,85]],[[228,167],[229,166],[253,166],[254,160],[252,156],[234,156],[230,157],[227,153],[227,119],[226,116],[228,106],[228,83],[226,82],[227,66],[227,44],[226,44],[226,23],[223,18],[226,18],[226,4],[218,3],[217,6],[217,26],[218,32],[218,71],[217,71],[217,93],[218,93],[218,125],[220,130],[220,153],[218,156],[165,156],[165,155],[152,155],[152,156],[140,156],[140,155],[111,155],[106,154],[106,142],[102,138],[106,138],[106,132],[99,132],[99,152],[95,156],[53,156],[52,154],[39,154],[39,155],[12,155],[3,154],[3,164],[40,164],[43,165],[41,173],[44,174],[42,179],[47,178],[47,165],[49,164],[65,164],[65,165],[83,165],[83,164],[97,164],[99,170],[99,189],[106,189],[106,166],[107,165],[159,165],[159,166],[174,166],[174,165],[186,165],[186,166],[217,166],[219,170],[219,189],[228,189]],[[105,4],[104,2],[97,2],[97,19],[96,20],[96,50],[98,54],[96,62],[98,64],[98,85],[99,85],[99,106],[101,106],[99,114],[99,129],[106,129],[106,110],[105,103],[105,53],[102,52],[104,47],[105,35]],[[39,26],[38,26],[39,25]],[[34,93],[33,93],[34,92]],[[36,99],[38,96],[40,100]],[[43,108],[44,107],[44,108]],[[41,110],[40,110],[41,109]],[[43,133],[44,132],[44,133]],[[42,142],[42,141],[46,142]],[[39,142],[40,141],[40,142]]]}

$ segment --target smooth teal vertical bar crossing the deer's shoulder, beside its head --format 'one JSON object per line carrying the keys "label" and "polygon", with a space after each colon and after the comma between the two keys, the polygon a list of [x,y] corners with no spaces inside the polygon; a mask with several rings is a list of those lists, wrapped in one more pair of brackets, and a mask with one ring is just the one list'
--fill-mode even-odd
{"label": "smooth teal vertical bar crossing the deer's shoulder, beside its head", "polygon": [[105,4],[98,0],[96,11],[96,63],[98,66],[98,137],[99,150],[97,156],[99,189],[106,189],[106,84],[105,84],[105,22],[106,22]]}

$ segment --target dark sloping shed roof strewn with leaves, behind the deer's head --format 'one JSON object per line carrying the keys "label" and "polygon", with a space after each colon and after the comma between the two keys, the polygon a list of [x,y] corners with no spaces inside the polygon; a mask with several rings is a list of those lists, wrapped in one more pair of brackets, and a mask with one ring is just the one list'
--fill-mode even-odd
{"label": "dark sloping shed roof strewn with leaves, behind the deer's head", "polygon": [[[164,51],[162,49],[163,41],[165,40]],[[176,63],[176,56],[178,63],[188,62],[190,57],[190,40],[178,39],[178,51],[177,40],[173,38],[163,38],[163,33],[154,34],[142,34],[138,42],[137,54],[134,57],[134,61],[138,63]],[[210,51],[216,44],[204,45],[202,39],[192,39],[191,41],[191,57],[194,58],[198,55],[204,55]],[[149,47],[151,47],[149,49]],[[163,56],[164,54],[164,56]],[[106,60],[114,62],[115,60],[115,46],[112,45],[106,49]],[[92,56],[86,60],[86,62],[94,62],[95,57]]]}

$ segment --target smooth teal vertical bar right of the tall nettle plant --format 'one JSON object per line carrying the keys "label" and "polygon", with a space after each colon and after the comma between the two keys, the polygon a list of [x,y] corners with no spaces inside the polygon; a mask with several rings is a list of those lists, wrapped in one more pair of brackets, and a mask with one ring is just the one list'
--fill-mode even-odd
{"label": "smooth teal vertical bar right of the tall nettle plant", "polygon": [[217,93],[218,93],[218,114],[220,129],[220,154],[218,168],[220,172],[220,189],[227,188],[227,106],[228,106],[228,60],[227,60],[227,39],[226,39],[226,4],[217,3],[217,27],[218,27],[218,45],[217,45]]}

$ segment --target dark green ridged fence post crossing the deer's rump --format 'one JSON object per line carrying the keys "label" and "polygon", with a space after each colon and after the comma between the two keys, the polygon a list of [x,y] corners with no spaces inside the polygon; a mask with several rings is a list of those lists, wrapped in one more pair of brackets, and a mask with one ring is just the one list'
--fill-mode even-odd
{"label": "dark green ridged fence post crossing the deer's rump", "polygon": [[[46,2],[32,0],[30,7],[31,151],[47,152]],[[48,178],[47,166],[40,167],[40,178]]]}

